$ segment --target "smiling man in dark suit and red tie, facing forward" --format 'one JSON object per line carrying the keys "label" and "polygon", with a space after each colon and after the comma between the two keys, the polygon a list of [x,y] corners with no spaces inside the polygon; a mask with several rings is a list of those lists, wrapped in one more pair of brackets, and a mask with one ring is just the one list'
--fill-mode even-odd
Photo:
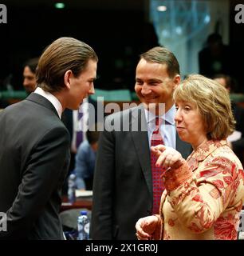
{"label": "smiling man in dark suit and red tie, facing forward", "polygon": [[109,115],[100,134],[93,181],[93,239],[136,239],[137,219],[152,214],[150,146],[156,117],[163,119],[159,132],[164,144],[185,158],[190,154],[191,146],[181,142],[175,130],[172,94],[179,82],[179,63],[169,50],[155,47],[141,54],[135,90],[143,104]]}

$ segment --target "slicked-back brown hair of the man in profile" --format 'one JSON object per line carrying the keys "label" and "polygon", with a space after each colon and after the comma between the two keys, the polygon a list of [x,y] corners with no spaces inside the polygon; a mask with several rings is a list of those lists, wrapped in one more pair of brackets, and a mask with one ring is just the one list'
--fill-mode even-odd
{"label": "slicked-back brown hair of the man in profile", "polygon": [[78,77],[92,59],[98,61],[91,46],[75,38],[58,38],[41,55],[37,66],[37,86],[50,93],[60,91],[64,75],[71,70]]}

